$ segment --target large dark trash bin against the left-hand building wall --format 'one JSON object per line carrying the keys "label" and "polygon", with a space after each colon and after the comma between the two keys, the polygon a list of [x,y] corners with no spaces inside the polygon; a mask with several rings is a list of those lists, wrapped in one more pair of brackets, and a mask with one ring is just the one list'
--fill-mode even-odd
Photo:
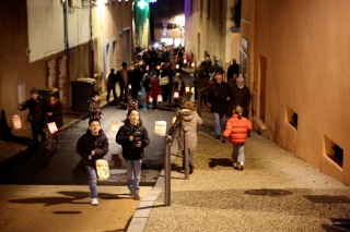
{"label": "large dark trash bin against the left-hand building wall", "polygon": [[77,81],[71,82],[72,85],[72,111],[89,111],[88,100],[94,91],[94,83]]}

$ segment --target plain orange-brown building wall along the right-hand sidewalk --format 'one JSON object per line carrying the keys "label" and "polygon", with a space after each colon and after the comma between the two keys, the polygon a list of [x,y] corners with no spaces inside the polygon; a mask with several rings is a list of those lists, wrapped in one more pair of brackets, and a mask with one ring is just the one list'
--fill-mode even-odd
{"label": "plain orange-brown building wall along the right-hand sidewalk", "polygon": [[[347,0],[244,0],[242,35],[252,45],[249,87],[267,136],[350,184],[348,9]],[[290,123],[293,112],[298,126]],[[329,157],[334,144],[343,149],[342,168]]]}

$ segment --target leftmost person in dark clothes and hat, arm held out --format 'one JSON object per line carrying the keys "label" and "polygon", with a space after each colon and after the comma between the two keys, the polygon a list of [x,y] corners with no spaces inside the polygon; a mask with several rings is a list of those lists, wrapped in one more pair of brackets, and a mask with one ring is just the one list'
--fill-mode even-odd
{"label": "leftmost person in dark clothes and hat, arm held out", "polygon": [[27,121],[31,122],[32,135],[33,135],[33,147],[37,148],[39,141],[37,135],[42,136],[42,143],[46,142],[46,134],[43,131],[45,121],[45,106],[46,101],[38,95],[36,88],[31,90],[31,99],[26,100],[24,103],[19,106],[19,110],[24,111],[30,109]]}

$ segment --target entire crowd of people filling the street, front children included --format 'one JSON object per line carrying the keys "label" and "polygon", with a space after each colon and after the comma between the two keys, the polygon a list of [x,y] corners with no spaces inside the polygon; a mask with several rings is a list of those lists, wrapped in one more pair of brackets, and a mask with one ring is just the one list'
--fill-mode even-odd
{"label": "entire crowd of people filling the street, front children included", "polygon": [[[234,169],[244,170],[244,144],[252,131],[252,123],[247,120],[248,109],[250,103],[250,91],[245,85],[245,80],[238,75],[238,64],[233,60],[232,65],[228,70],[228,81],[224,82],[223,69],[215,62],[211,64],[208,56],[205,61],[196,69],[194,73],[194,83],[196,86],[195,98],[199,103],[199,109],[195,103],[184,97],[185,82],[180,70],[174,68],[173,62],[165,63],[161,61],[159,69],[148,69],[149,57],[145,53],[143,64],[137,63],[133,66],[128,66],[122,63],[121,68],[116,72],[110,70],[107,82],[107,97],[113,91],[114,99],[124,103],[128,103],[129,91],[131,91],[131,102],[128,105],[127,117],[124,120],[124,125],[118,130],[115,142],[122,148],[122,157],[126,159],[127,169],[127,186],[130,191],[130,196],[135,199],[140,199],[139,184],[141,178],[141,164],[144,157],[144,148],[150,144],[148,131],[142,125],[140,112],[138,110],[138,95],[141,86],[145,90],[145,105],[152,98],[152,108],[159,107],[158,98],[162,95],[163,105],[172,105],[174,98],[177,107],[176,120],[168,130],[172,135],[178,131],[178,148],[184,154],[184,127],[188,130],[189,144],[189,173],[194,172],[195,166],[192,161],[192,151],[197,146],[197,126],[202,123],[200,118],[200,108],[209,109],[214,118],[214,138],[225,143],[226,139],[233,144],[232,162]],[[180,68],[179,68],[180,69]],[[118,98],[115,87],[119,83],[120,96]],[[130,89],[130,90],[129,90]],[[174,93],[177,93],[176,96]],[[103,159],[108,152],[108,138],[104,134],[101,126],[102,110],[100,109],[100,95],[93,93],[89,99],[90,121],[86,132],[78,139],[77,152],[84,161],[88,175],[91,195],[91,205],[98,205],[97,181],[95,161]],[[57,130],[49,134],[48,150],[51,150],[51,142],[54,136],[57,144],[56,149],[60,148],[59,132],[62,130],[62,105],[58,97],[50,95],[48,102],[38,96],[38,90],[31,90],[31,99],[19,106],[20,110],[30,109],[27,120],[31,122],[34,146],[38,146],[38,135],[42,136],[42,143],[47,139],[43,131],[44,122],[55,122]],[[229,120],[226,121],[226,117]],[[183,163],[183,169],[185,169]]]}

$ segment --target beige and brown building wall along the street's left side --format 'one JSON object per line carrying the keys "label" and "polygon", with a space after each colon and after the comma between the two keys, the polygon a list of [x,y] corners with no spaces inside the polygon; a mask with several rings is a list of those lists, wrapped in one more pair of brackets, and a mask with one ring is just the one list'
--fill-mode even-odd
{"label": "beige and brown building wall along the street's left side", "polygon": [[[60,97],[67,110],[71,106],[70,81],[78,77],[97,77],[105,90],[103,47],[108,42],[113,50],[107,58],[110,68],[120,68],[131,61],[131,1],[97,1],[95,5],[82,5],[72,0],[68,14],[69,49],[65,50],[63,9],[60,1],[4,0],[0,10],[0,110],[4,110],[9,126],[13,129],[12,115],[19,114],[26,133],[27,111],[19,111],[18,85],[25,84],[24,99],[30,98],[32,87],[60,88]],[[125,38],[125,39],[124,39]],[[126,49],[127,47],[127,49]],[[27,50],[31,50],[28,52]],[[129,52],[125,54],[125,51]],[[68,57],[66,57],[68,54]],[[56,74],[49,69],[57,66]],[[49,81],[57,76],[56,82]],[[62,82],[65,80],[65,82]],[[61,95],[63,93],[63,95]],[[65,98],[65,99],[62,99]]]}

